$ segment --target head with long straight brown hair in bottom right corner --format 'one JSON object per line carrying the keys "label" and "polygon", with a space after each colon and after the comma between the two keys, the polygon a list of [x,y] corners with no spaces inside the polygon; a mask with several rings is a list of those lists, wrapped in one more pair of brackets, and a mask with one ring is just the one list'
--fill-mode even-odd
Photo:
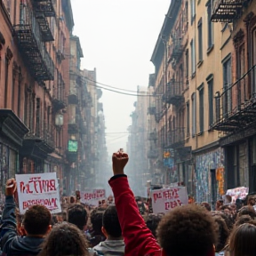
{"label": "head with long straight brown hair in bottom right corner", "polygon": [[256,252],[256,227],[244,223],[235,228],[229,237],[230,256],[254,256]]}

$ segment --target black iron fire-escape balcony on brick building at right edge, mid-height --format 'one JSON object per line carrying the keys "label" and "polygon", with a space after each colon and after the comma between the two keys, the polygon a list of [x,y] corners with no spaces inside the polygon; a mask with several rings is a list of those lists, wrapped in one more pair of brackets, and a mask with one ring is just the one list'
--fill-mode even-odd
{"label": "black iron fire-escape balcony on brick building at right edge, mid-height", "polygon": [[212,129],[238,132],[256,122],[256,66],[234,84],[224,84],[216,100],[216,122]]}

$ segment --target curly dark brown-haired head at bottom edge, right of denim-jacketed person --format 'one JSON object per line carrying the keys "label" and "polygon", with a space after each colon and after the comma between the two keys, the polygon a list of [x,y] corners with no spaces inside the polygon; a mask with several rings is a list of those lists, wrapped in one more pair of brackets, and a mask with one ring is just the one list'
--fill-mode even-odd
{"label": "curly dark brown-haired head at bottom edge, right of denim-jacketed person", "polygon": [[88,243],[83,232],[67,222],[56,224],[42,244],[38,256],[88,256]]}

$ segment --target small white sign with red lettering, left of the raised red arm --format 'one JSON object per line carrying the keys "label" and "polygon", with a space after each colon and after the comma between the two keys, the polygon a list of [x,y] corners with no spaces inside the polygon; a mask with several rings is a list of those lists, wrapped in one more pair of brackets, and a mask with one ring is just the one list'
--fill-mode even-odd
{"label": "small white sign with red lettering, left of the raised red arm", "polygon": [[83,204],[90,204],[99,206],[99,201],[106,199],[105,189],[85,189],[80,192],[80,202]]}

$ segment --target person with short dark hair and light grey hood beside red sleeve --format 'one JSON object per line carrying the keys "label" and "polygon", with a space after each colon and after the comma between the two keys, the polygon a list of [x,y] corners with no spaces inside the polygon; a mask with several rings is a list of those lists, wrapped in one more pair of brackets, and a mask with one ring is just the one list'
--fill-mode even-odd
{"label": "person with short dark hair and light grey hood beside red sleeve", "polygon": [[99,255],[124,256],[124,238],[118,220],[116,206],[109,205],[102,216],[102,233],[107,239],[93,247]]}

